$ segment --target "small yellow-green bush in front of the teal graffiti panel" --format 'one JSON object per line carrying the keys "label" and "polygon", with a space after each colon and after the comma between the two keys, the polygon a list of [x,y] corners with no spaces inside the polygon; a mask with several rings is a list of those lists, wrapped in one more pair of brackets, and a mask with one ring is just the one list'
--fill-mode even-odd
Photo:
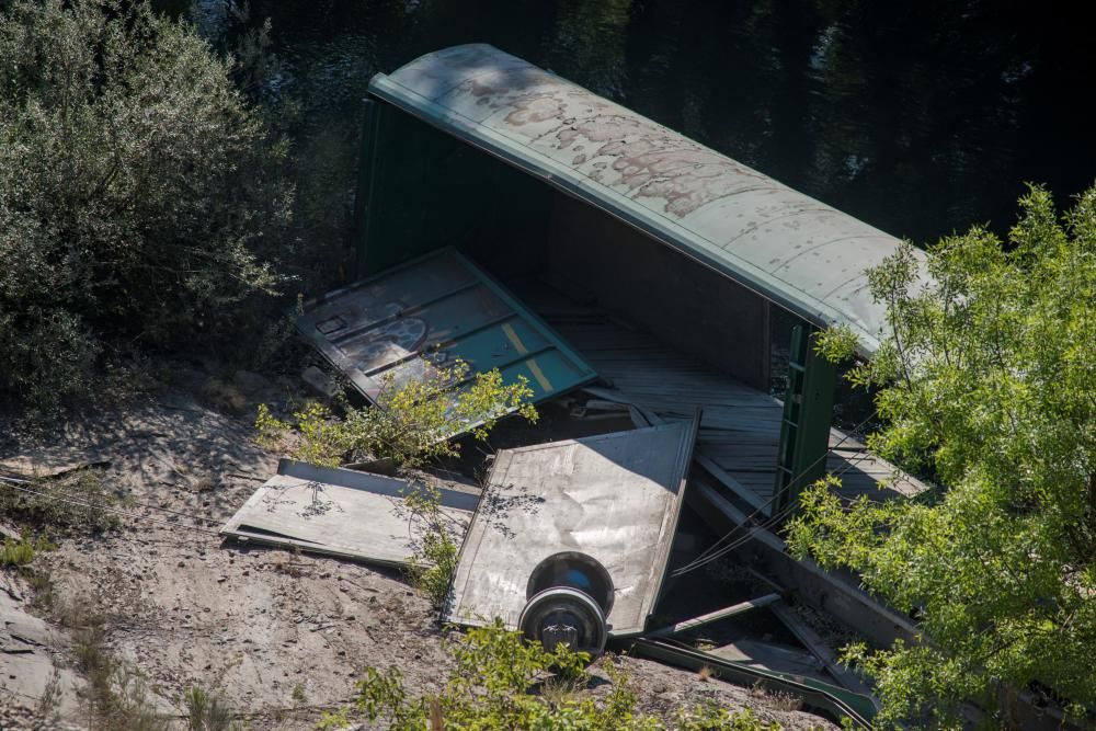
{"label": "small yellow-green bush in front of the teal graffiti panel", "polygon": [[[342,419],[310,402],[294,413],[295,423],[289,424],[261,404],[256,441],[266,449],[287,449],[294,458],[316,465],[391,459],[401,467],[420,467],[456,455],[457,445],[447,439],[463,431],[487,438],[499,418],[510,411],[537,420],[529,402],[533,389],[524,377],[507,386],[494,369],[476,374],[467,387],[454,390],[468,373],[468,364],[457,361],[446,368],[424,363],[420,376],[401,384],[388,375],[375,408],[357,409],[343,401]],[[288,438],[294,427],[295,444]]]}

